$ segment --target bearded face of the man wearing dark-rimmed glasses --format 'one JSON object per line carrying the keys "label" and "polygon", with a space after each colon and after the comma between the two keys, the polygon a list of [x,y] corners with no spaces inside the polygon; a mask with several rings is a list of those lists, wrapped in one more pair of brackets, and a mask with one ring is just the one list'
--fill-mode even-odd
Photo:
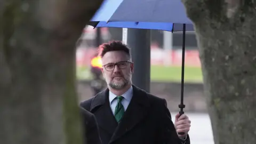
{"label": "bearded face of the man wearing dark-rimmed glasses", "polygon": [[102,74],[108,86],[115,90],[121,90],[131,84],[133,63],[123,51],[107,52],[102,57]]}

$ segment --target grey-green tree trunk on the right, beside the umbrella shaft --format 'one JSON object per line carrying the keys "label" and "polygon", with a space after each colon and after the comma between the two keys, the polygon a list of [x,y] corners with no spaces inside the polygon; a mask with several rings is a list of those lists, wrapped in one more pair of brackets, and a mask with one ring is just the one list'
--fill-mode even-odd
{"label": "grey-green tree trunk on the right, beside the umbrella shaft", "polygon": [[215,144],[255,143],[255,1],[183,3],[196,29]]}

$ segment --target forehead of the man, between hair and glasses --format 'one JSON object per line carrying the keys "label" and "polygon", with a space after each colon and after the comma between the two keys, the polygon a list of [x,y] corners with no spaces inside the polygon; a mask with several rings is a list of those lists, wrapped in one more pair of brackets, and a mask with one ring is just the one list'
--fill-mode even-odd
{"label": "forehead of the man, between hair and glasses", "polygon": [[107,52],[101,60],[102,64],[106,65],[107,63],[115,63],[119,61],[129,60],[129,57],[123,51],[111,51]]}

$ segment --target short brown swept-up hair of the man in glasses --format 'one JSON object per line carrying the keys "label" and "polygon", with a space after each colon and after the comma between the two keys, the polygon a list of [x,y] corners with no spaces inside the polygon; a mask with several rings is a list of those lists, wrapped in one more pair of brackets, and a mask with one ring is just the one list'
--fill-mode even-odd
{"label": "short brown swept-up hair of the man in glasses", "polygon": [[121,41],[110,41],[99,46],[99,56],[102,58],[107,52],[124,51],[131,58],[130,49]]}

